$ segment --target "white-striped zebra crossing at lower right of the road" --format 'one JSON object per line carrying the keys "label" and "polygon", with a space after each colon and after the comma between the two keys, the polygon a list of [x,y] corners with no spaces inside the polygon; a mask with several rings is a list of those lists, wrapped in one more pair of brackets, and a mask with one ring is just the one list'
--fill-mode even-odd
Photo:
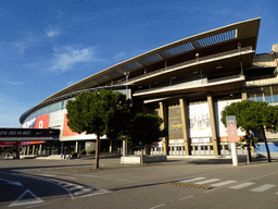
{"label": "white-striped zebra crossing at lower right of the road", "polygon": [[[187,179],[179,181],[179,183],[191,183],[194,185],[203,185],[203,186],[210,186],[210,187],[222,187],[222,186],[229,186],[230,189],[241,189],[241,188],[248,188],[250,187],[251,192],[255,193],[263,193],[268,189],[273,189],[277,187],[275,184],[264,184],[264,185],[257,185],[254,182],[238,182],[235,180],[227,180],[222,181],[220,179],[206,179],[206,177],[193,177],[193,179]],[[278,192],[275,193],[278,195]]]}

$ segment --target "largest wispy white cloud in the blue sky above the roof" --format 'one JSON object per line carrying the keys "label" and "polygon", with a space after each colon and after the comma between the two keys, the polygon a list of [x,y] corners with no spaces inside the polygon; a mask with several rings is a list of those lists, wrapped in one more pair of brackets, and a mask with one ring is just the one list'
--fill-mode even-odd
{"label": "largest wispy white cloud in the blue sky above the roof", "polygon": [[73,65],[81,62],[97,62],[102,61],[94,54],[93,48],[74,49],[72,47],[63,47],[62,49],[54,49],[56,52],[55,60],[52,62],[50,70],[66,71]]}

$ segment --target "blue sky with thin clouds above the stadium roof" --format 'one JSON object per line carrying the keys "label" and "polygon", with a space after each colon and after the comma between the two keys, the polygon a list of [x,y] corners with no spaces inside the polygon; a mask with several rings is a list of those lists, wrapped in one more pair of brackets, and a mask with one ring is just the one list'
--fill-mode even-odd
{"label": "blue sky with thin clouds above the stadium roof", "polygon": [[0,127],[126,59],[261,16],[256,53],[278,44],[276,0],[1,0]]}

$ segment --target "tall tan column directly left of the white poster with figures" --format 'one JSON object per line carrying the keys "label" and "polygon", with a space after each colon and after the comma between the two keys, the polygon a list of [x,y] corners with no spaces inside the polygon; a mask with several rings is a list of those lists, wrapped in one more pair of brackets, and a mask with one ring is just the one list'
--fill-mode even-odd
{"label": "tall tan column directly left of the white poster with figures", "polygon": [[189,139],[187,100],[184,98],[179,99],[179,106],[180,106],[180,115],[181,115],[181,123],[182,123],[185,151],[186,151],[186,156],[191,156],[191,148],[190,148],[191,143]]}

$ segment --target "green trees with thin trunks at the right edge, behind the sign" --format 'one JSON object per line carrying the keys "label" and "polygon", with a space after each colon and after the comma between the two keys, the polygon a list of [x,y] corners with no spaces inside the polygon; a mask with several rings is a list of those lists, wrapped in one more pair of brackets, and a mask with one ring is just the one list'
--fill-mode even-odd
{"label": "green trees with thin trunks at the right edge, behind the sign", "polygon": [[267,102],[243,100],[241,102],[233,102],[226,107],[222,114],[222,122],[226,126],[226,116],[236,115],[237,126],[242,127],[247,135],[244,139],[248,148],[248,162],[251,160],[250,144],[255,144],[256,138],[250,136],[250,131],[262,130],[263,139],[267,149],[267,159],[270,162],[270,153],[265,137],[264,126],[271,125],[277,130],[278,111],[276,107],[269,107]]}

